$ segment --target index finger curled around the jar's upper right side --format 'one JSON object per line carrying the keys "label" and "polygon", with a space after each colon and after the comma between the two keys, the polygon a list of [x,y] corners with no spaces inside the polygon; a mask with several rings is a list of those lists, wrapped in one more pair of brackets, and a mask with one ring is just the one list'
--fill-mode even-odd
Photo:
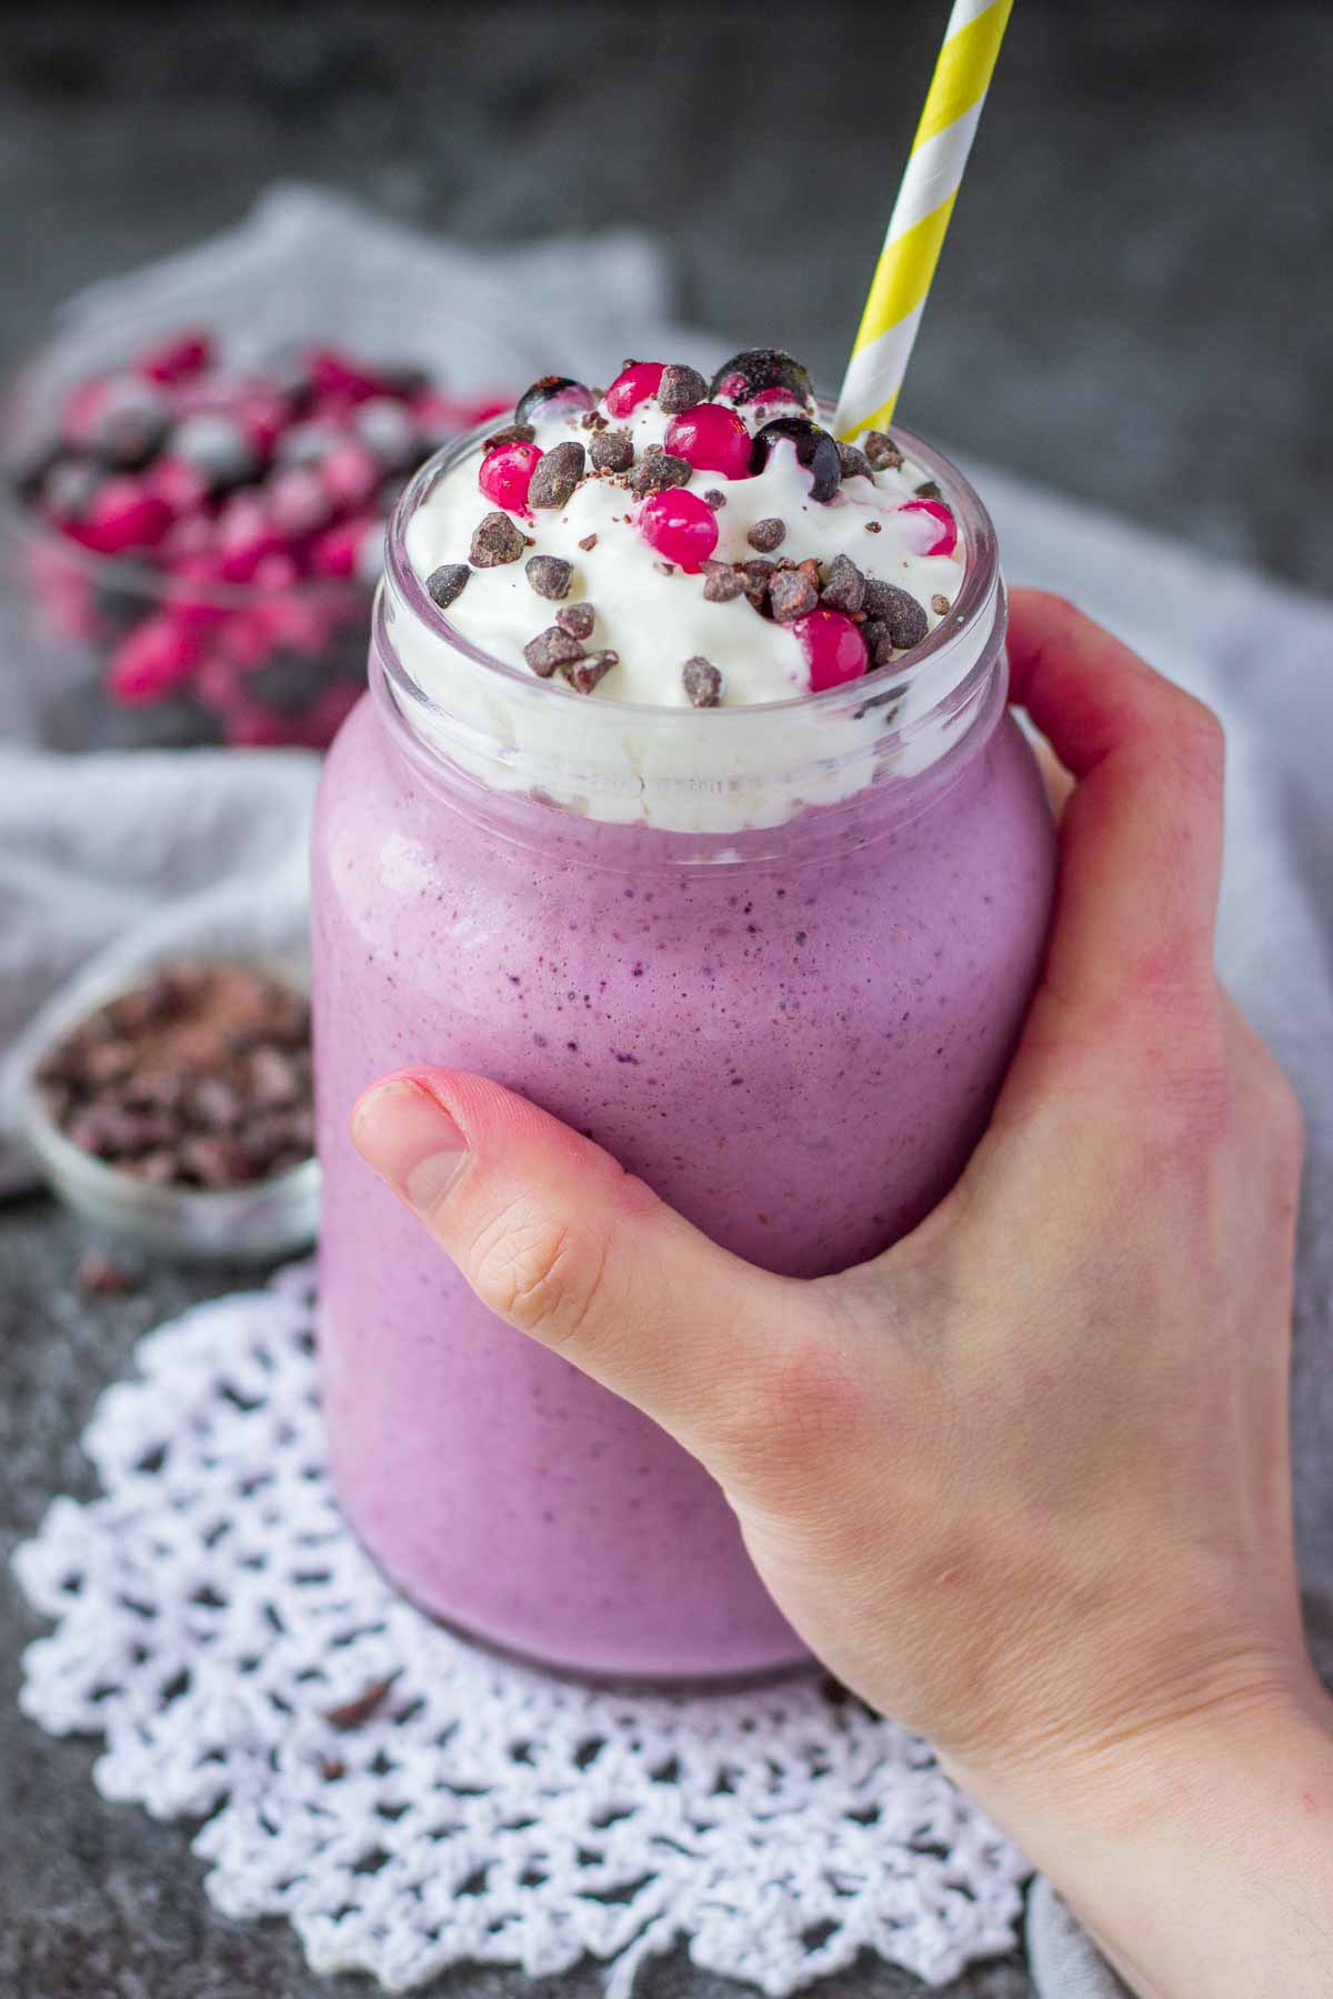
{"label": "index finger curled around the jar's upper right side", "polygon": [[1123,998],[1207,978],[1221,868],[1217,720],[1061,598],[1015,590],[1011,700],[1077,780],[1047,986]]}

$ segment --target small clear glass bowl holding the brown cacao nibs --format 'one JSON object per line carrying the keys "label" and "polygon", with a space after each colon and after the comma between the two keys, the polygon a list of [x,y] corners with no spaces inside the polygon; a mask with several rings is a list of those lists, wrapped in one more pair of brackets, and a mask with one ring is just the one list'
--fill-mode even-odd
{"label": "small clear glass bowl holding the brown cacao nibs", "polygon": [[[292,964],[250,964],[306,990],[304,972]],[[160,1187],[84,1151],[42,1101],[36,1081],[42,1057],[98,1007],[136,992],[152,970],[152,964],[136,966],[104,988],[80,992],[72,1005],[48,1009],[34,1023],[18,1091],[24,1133],[46,1183],[100,1229],[180,1261],[272,1263],[310,1247],[320,1229],[320,1161],[314,1155],[246,1187]]]}

